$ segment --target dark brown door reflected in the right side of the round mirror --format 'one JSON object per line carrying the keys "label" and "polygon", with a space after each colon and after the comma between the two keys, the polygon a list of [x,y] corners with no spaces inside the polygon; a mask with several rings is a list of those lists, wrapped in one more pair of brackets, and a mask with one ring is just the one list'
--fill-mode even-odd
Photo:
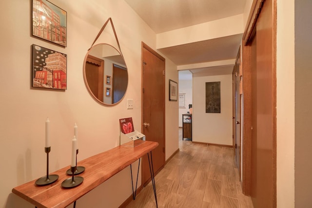
{"label": "dark brown door reflected in the right side of the round mirror", "polygon": [[112,101],[117,103],[125,95],[128,86],[127,68],[113,64]]}

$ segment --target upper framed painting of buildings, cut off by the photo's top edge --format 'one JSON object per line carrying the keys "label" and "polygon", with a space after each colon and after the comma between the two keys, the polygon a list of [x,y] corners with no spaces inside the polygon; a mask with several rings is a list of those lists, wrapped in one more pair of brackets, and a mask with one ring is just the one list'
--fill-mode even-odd
{"label": "upper framed painting of buildings, cut off by the photo's top edge", "polygon": [[67,46],[67,12],[47,0],[32,0],[32,35]]}

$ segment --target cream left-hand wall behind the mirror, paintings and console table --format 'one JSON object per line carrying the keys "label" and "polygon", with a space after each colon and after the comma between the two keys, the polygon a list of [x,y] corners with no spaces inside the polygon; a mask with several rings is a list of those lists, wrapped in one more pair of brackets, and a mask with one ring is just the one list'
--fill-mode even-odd
{"label": "cream left-hand wall behind the mirror, paintings and console table", "polygon": [[[32,37],[31,1],[0,1],[5,19],[0,26],[0,207],[33,208],[11,193],[12,188],[45,174],[44,121],[51,121],[50,171],[70,164],[71,139],[78,125],[78,161],[119,144],[118,119],[133,117],[141,126],[141,41],[156,48],[156,34],[124,0],[50,0],[67,11],[67,47]],[[128,90],[116,106],[103,106],[87,92],[82,65],[103,23],[111,17],[129,72]],[[106,26],[98,42],[117,47]],[[31,87],[31,45],[67,54],[67,90]],[[166,80],[178,79],[176,66],[166,60]],[[178,149],[178,107],[169,103],[166,84],[166,159]],[[127,98],[134,109],[126,110]],[[170,124],[170,125],[169,125]],[[175,126],[175,127],[172,127]],[[137,163],[135,165],[137,167]],[[80,198],[77,208],[118,207],[132,194],[129,168]],[[133,170],[135,171],[135,170]],[[140,185],[140,180],[138,182]]]}

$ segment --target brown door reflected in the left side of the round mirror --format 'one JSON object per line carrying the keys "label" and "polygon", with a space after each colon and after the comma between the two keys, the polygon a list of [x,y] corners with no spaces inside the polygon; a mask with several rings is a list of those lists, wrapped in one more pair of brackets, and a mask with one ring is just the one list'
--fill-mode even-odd
{"label": "brown door reflected in the left side of the round mirror", "polygon": [[88,55],[85,65],[85,73],[91,92],[103,102],[104,60]]}

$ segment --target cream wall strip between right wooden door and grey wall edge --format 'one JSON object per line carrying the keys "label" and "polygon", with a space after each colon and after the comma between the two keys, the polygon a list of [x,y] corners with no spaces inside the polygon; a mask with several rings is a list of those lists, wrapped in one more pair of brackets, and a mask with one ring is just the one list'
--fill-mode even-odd
{"label": "cream wall strip between right wooden door and grey wall edge", "polygon": [[294,0],[278,0],[276,47],[276,198],[294,207]]}

